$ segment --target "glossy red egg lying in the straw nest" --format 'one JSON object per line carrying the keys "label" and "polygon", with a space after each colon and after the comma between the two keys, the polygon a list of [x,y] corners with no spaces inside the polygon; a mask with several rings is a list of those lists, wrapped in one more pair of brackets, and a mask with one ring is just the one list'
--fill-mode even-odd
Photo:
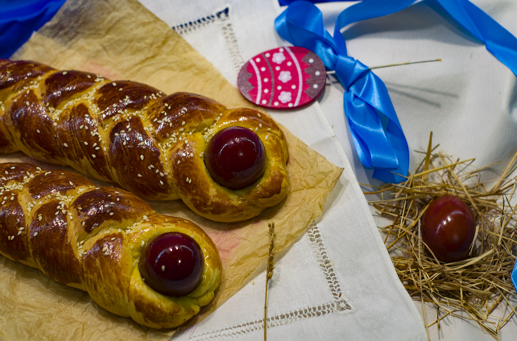
{"label": "glossy red egg lying in the straw nest", "polygon": [[422,240],[440,261],[468,257],[476,233],[476,220],[462,199],[444,195],[435,199],[422,219]]}

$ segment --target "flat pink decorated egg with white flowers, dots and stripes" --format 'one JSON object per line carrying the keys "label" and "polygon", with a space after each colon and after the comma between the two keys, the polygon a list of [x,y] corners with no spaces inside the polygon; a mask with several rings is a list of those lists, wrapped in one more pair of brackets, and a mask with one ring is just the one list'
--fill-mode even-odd
{"label": "flat pink decorated egg with white flowers, dots and stripes", "polygon": [[300,46],[272,49],[248,60],[237,86],[250,102],[271,109],[293,109],[314,101],[325,88],[325,65]]}

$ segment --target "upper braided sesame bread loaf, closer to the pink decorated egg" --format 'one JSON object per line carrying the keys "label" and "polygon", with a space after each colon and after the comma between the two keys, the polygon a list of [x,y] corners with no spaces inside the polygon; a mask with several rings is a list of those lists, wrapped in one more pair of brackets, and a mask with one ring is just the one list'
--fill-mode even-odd
{"label": "upper braided sesame bread loaf, closer to the pink decorated egg", "polygon": [[[210,138],[231,126],[253,130],[266,152],[263,175],[240,190],[215,182],[203,160]],[[275,121],[255,110],[0,59],[0,152],[17,150],[116,182],[143,198],[181,198],[221,222],[256,216],[278,204],[288,187],[285,137]]]}

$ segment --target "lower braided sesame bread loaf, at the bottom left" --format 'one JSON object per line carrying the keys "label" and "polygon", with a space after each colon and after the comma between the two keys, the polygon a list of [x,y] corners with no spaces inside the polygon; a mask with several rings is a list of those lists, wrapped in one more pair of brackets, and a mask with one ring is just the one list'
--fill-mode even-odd
{"label": "lower braided sesame bread loaf, at the bottom left", "polygon": [[[25,163],[2,163],[0,173],[0,253],[7,258],[152,328],[179,326],[214,298],[221,260],[194,223],[157,215],[133,194],[95,187],[77,173]],[[180,297],[151,289],[139,270],[146,244],[166,232],[190,236],[202,251],[201,280]]]}

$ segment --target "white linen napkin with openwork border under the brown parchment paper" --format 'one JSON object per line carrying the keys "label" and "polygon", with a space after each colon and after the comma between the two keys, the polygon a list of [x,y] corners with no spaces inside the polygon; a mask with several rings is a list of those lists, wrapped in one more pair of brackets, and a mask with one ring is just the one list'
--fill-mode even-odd
{"label": "white linen napkin with openwork border under the brown parchment paper", "polygon": [[[275,2],[141,2],[234,85],[245,60],[285,45],[272,24],[279,13]],[[268,338],[427,339],[419,313],[391,265],[353,169],[320,104],[270,114],[345,169],[320,219],[277,257],[282,256],[268,289]],[[265,266],[258,269],[252,281],[207,319],[173,339],[262,339],[264,270]]]}

